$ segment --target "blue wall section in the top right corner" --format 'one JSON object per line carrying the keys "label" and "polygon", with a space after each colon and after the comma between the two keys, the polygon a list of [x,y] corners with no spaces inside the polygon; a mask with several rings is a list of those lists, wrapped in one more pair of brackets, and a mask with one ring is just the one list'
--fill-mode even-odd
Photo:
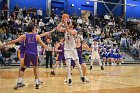
{"label": "blue wall section in the top right corner", "polygon": [[127,4],[136,4],[137,7],[127,6],[126,7],[126,18],[140,18],[140,0],[126,0]]}

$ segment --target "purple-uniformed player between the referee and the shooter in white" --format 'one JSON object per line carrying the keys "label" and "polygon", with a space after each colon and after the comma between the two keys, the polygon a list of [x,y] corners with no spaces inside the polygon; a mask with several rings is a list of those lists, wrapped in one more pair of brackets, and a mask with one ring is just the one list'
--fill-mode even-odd
{"label": "purple-uniformed player between the referee and the shooter in white", "polygon": [[[55,69],[56,67],[60,64],[61,61],[65,62],[65,57],[64,57],[64,37],[60,38],[60,42],[57,43],[55,47],[55,51],[58,53],[57,58],[56,58],[56,64],[53,67],[53,71],[51,71],[52,75],[55,75]],[[66,63],[66,62],[65,62]]]}

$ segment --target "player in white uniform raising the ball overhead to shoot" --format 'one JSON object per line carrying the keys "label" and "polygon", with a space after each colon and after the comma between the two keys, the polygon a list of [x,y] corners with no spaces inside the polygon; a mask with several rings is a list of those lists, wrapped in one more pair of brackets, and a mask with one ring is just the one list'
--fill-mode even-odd
{"label": "player in white uniform raising the ball overhead to shoot", "polygon": [[68,72],[68,85],[72,84],[71,79],[71,60],[74,60],[78,70],[81,75],[82,82],[85,82],[85,78],[83,77],[83,73],[81,70],[81,66],[79,64],[79,58],[76,50],[76,42],[75,42],[75,36],[77,35],[77,31],[75,28],[77,27],[77,24],[73,22],[68,23],[68,19],[65,18],[64,25],[65,28],[62,28],[62,22],[57,26],[57,30],[60,32],[65,33],[65,42],[64,42],[64,56],[67,62],[67,72]]}

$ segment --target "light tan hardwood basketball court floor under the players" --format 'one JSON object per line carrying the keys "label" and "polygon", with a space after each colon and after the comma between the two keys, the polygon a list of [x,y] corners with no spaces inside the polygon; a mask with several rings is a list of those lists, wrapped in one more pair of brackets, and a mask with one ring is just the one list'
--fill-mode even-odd
{"label": "light tan hardwood basketball court floor under the players", "polygon": [[17,81],[18,68],[0,69],[0,93],[140,93],[140,65],[108,66],[104,71],[94,66],[87,71],[90,83],[82,84],[78,70],[74,69],[73,84],[64,84],[65,68],[58,68],[56,75],[50,75],[50,69],[40,68],[40,80],[44,83],[39,90],[34,89],[32,68],[25,72],[26,86],[13,90]]}

